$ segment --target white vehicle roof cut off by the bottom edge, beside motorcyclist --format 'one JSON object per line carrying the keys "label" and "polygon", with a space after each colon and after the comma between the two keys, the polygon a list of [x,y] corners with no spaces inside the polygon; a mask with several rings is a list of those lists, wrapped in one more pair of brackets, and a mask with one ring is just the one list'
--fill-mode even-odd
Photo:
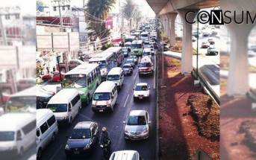
{"label": "white vehicle roof cut off by the bottom edge, beside motorcyclist", "polygon": [[119,150],[113,152],[109,160],[143,160],[136,150]]}

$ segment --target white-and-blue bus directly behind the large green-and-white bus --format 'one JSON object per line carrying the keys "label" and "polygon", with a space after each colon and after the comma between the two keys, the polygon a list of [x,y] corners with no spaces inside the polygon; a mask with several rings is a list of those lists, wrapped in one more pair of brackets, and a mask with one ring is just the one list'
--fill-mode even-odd
{"label": "white-and-blue bus directly behind the large green-and-white bus", "polygon": [[102,80],[106,80],[108,71],[115,67],[115,54],[111,52],[102,52],[90,58],[89,63],[98,63],[101,71]]}

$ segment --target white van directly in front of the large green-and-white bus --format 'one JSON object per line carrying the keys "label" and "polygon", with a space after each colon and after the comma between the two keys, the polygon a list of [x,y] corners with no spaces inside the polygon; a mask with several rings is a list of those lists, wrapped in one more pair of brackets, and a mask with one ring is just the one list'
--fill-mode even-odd
{"label": "white van directly in front of the large green-and-white bus", "polygon": [[81,98],[77,89],[61,89],[51,97],[46,106],[51,109],[58,123],[72,124],[81,109]]}

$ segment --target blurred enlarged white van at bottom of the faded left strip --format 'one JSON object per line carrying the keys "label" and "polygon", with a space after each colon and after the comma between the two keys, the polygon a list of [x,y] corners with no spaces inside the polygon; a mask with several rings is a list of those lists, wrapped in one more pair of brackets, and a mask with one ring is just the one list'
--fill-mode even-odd
{"label": "blurred enlarged white van at bottom of the faded left strip", "polygon": [[0,155],[22,156],[35,143],[36,115],[6,113],[0,117]]}

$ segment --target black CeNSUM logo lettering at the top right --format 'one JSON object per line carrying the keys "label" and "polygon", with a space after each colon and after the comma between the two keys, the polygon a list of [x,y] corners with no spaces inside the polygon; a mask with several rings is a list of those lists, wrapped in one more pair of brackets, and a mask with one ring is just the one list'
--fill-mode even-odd
{"label": "black CeNSUM logo lettering at the top right", "polygon": [[[210,13],[205,10],[202,10],[199,13],[196,13],[193,10],[188,11],[185,15],[186,22],[189,24],[196,23],[196,20],[194,20],[193,22],[190,22],[187,19],[187,16],[189,14],[194,14],[194,15],[197,14],[196,19],[200,23],[202,23],[202,24],[209,23],[209,25],[230,24],[233,22],[231,17],[234,17],[233,20],[236,24],[242,24],[242,23],[249,24],[251,22],[252,22],[252,24],[254,24],[255,20],[256,20],[256,14],[251,15],[251,13],[249,11],[242,10],[241,12],[238,13],[236,10],[234,10],[233,12],[231,12],[230,10],[226,10],[224,12],[223,10],[220,10],[219,7],[218,7],[218,10],[215,10],[214,8],[213,8],[213,10],[210,10]],[[238,17],[238,15],[240,15],[240,16]]]}

